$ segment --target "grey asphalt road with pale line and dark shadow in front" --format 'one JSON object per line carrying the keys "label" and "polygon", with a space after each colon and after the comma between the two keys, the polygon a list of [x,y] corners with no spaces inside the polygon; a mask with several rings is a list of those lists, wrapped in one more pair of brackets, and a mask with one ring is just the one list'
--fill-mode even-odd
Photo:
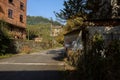
{"label": "grey asphalt road with pale line and dark shadow in front", "polygon": [[63,80],[63,50],[17,55],[0,60],[0,80]]}

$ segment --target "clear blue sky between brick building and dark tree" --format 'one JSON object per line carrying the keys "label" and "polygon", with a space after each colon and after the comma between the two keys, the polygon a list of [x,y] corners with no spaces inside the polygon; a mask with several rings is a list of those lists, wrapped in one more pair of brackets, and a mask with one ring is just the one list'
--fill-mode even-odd
{"label": "clear blue sky between brick building and dark tree", "polygon": [[27,15],[56,20],[55,12],[63,8],[64,0],[27,0]]}

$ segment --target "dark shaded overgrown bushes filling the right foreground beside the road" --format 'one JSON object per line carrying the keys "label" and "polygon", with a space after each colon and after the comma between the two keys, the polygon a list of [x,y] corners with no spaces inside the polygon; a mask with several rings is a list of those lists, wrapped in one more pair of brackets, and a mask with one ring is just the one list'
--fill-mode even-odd
{"label": "dark shaded overgrown bushes filling the right foreground beside the road", "polygon": [[91,49],[71,52],[70,65],[75,71],[68,72],[72,80],[119,80],[120,79],[120,41],[113,40],[105,47],[104,40],[96,33],[91,39]]}

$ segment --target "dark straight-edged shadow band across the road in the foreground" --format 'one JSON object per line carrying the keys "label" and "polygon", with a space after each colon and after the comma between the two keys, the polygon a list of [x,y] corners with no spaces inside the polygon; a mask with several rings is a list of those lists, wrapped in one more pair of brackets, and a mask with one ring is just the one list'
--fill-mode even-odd
{"label": "dark straight-edged shadow band across the road in the foreground", "polygon": [[64,80],[63,71],[0,71],[0,80]]}

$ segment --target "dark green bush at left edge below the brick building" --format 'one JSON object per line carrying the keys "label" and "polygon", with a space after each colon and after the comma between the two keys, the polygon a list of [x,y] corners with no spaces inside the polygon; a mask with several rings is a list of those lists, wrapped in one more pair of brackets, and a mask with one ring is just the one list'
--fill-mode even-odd
{"label": "dark green bush at left edge below the brick building", "polygon": [[8,24],[0,21],[0,55],[16,52],[14,42],[8,33]]}

